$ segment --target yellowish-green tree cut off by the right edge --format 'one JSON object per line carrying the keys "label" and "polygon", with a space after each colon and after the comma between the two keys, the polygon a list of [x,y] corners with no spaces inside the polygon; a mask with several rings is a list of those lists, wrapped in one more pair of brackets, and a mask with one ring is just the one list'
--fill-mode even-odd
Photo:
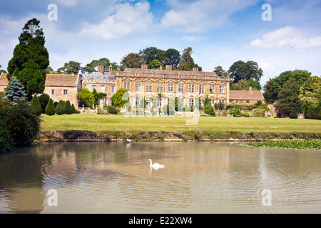
{"label": "yellowish-green tree cut off by the right edge", "polygon": [[304,104],[304,107],[317,107],[320,105],[318,93],[321,90],[321,78],[313,76],[307,79],[300,88],[299,98]]}

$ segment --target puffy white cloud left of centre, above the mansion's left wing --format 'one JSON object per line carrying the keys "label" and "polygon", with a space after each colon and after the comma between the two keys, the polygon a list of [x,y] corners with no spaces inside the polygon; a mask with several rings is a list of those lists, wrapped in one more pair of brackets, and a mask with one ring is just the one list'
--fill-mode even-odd
{"label": "puffy white cloud left of centre, above the mansion's left wing", "polygon": [[147,31],[153,22],[153,14],[149,11],[147,1],[138,2],[131,6],[129,3],[120,4],[116,13],[108,16],[101,24],[85,24],[82,36],[96,36],[107,40],[120,38],[131,33]]}

